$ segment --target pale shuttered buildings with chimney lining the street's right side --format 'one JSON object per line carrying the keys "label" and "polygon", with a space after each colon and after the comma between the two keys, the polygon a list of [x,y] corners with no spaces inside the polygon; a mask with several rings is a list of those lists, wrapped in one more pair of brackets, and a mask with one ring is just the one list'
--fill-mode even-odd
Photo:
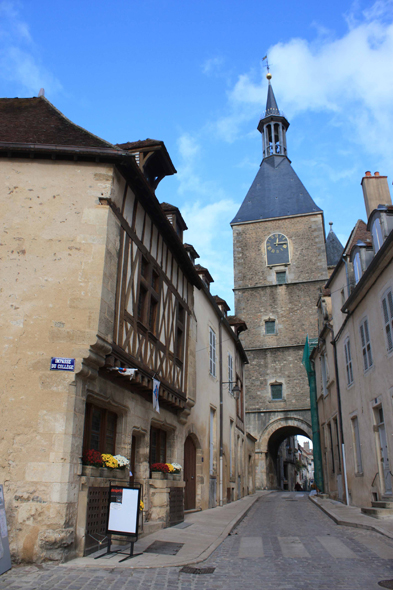
{"label": "pale shuttered buildings with chimney lining the street's right side", "polygon": [[321,291],[312,358],[327,492],[367,507],[392,496],[393,207],[386,176],[366,172],[362,188],[367,225]]}

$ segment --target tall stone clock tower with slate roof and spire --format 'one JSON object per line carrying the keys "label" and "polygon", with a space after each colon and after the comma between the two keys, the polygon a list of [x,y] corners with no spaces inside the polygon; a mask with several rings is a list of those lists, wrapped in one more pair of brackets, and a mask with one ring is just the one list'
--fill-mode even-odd
{"label": "tall stone clock tower with slate roof and spire", "polygon": [[266,112],[258,125],[262,163],[231,222],[235,311],[248,326],[242,334],[250,362],[246,419],[258,440],[259,488],[285,484],[277,469],[285,439],[312,438],[302,355],[306,335],[318,334],[316,301],[328,278],[323,212],[288,159],[289,123],[277,107],[271,74],[267,78]]}

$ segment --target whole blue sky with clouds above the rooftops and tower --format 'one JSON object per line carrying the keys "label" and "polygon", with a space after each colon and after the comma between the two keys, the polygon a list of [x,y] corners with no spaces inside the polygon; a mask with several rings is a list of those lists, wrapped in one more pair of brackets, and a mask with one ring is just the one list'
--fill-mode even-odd
{"label": "whole blue sky with clouds above the rooftops and tower", "polygon": [[177,174],[157,197],[232,313],[230,222],[262,159],[265,55],[288,157],[345,244],[365,171],[393,179],[393,0],[0,0],[0,96],[44,88],[107,141],[164,141]]}

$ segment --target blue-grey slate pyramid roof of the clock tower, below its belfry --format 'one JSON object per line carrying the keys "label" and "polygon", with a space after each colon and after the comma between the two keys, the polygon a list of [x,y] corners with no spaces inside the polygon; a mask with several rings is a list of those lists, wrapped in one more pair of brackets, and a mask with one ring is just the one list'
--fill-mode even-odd
{"label": "blue-grey slate pyramid roof of the clock tower, below its belfry", "polygon": [[292,168],[288,158],[270,156],[258,174],[231,224],[322,212]]}

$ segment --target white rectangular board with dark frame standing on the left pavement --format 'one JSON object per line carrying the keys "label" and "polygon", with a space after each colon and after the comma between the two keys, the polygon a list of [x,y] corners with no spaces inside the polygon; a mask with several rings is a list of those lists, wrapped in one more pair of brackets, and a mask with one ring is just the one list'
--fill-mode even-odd
{"label": "white rectangular board with dark frame standing on the left pavement", "polygon": [[140,488],[109,487],[107,534],[138,536],[140,492]]}

